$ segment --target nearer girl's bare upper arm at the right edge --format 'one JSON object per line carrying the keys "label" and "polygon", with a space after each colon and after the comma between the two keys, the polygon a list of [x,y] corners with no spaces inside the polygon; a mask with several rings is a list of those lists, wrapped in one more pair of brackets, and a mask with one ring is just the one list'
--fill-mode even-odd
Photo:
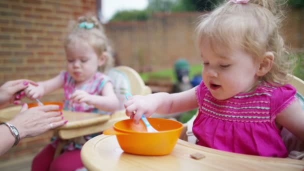
{"label": "nearer girl's bare upper arm at the right edge", "polygon": [[304,141],[304,106],[298,99],[278,113],[276,121]]}

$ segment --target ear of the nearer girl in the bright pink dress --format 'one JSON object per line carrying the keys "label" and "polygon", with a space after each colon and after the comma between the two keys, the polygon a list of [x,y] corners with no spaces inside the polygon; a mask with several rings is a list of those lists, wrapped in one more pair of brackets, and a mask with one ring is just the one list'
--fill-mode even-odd
{"label": "ear of the nearer girl in the bright pink dress", "polygon": [[273,60],[274,60],[274,54],[270,51],[265,52],[263,58],[259,61],[256,75],[257,76],[265,75],[271,69]]}

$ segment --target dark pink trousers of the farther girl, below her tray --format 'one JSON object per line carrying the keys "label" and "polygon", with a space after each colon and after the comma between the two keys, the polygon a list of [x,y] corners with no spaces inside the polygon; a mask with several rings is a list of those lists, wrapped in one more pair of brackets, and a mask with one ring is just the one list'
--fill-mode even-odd
{"label": "dark pink trousers of the farther girl, below her tray", "polygon": [[53,158],[55,148],[51,144],[47,144],[32,160],[32,171],[53,171],[66,170],[72,171],[83,167],[80,159],[80,149],[65,151]]}

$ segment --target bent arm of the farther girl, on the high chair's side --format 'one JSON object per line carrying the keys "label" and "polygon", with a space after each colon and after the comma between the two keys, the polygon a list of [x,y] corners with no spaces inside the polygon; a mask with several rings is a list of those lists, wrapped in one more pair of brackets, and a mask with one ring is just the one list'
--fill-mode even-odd
{"label": "bent arm of the farther girl, on the high chair's side", "polygon": [[106,82],[103,85],[101,94],[102,95],[92,95],[83,90],[76,90],[69,99],[94,105],[96,108],[104,111],[114,111],[119,107],[119,101],[114,93],[112,83]]}

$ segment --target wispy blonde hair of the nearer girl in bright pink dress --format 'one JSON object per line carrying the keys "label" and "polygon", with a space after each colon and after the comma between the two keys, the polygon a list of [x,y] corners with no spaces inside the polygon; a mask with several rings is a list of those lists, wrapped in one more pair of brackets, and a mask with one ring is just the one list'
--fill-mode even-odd
{"label": "wispy blonde hair of the nearer girl in bright pink dress", "polygon": [[[271,69],[261,80],[286,83],[295,60],[289,55],[279,34],[282,10],[279,0],[249,0],[248,3],[224,2],[210,13],[203,14],[196,27],[198,44],[207,38],[211,48],[217,45],[241,46],[254,60],[266,51],[274,54]],[[283,3],[281,3],[283,4]]]}

